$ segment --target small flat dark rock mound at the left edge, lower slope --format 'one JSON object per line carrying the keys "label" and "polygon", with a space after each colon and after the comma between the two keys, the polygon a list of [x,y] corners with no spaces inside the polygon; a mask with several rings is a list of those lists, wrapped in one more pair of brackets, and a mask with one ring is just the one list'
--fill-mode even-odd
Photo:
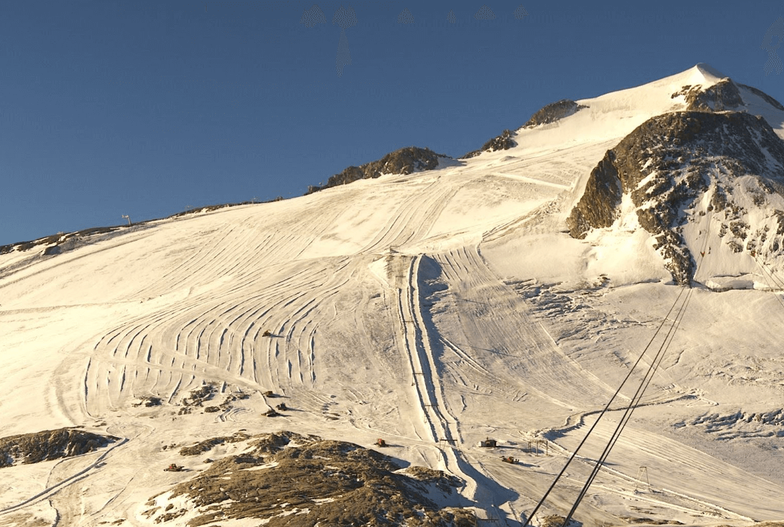
{"label": "small flat dark rock mound at the left edge, lower slope", "polygon": [[44,430],[0,439],[0,467],[78,456],[103,448],[118,438],[76,428]]}

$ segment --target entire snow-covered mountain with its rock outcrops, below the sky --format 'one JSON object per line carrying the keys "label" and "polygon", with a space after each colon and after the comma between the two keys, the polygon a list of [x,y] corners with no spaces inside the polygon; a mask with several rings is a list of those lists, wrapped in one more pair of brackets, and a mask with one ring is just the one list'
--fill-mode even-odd
{"label": "entire snow-covered mountain with its rock outcrops, below the sky", "polygon": [[7,247],[0,525],[521,525],[590,430],[557,525],[648,366],[574,519],[780,521],[782,137],[698,64],[459,160]]}

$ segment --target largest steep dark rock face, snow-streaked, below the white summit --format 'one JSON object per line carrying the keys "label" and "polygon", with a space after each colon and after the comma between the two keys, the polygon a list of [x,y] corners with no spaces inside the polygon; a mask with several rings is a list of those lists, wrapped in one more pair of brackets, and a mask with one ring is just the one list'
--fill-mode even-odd
{"label": "largest steep dark rock face, snow-streaked, below the white summit", "polygon": [[[711,106],[735,100],[728,84],[713,93],[713,99],[695,96],[692,101]],[[731,234],[726,243],[745,244],[750,251],[764,242],[771,248],[782,244],[760,226],[764,232],[748,245],[750,229],[742,228],[746,210],[731,199],[736,180],[746,175],[755,183],[747,182],[744,192],[753,195],[760,208],[766,208],[766,194],[784,193],[784,142],[762,117],[708,111],[659,115],[622,139],[593,169],[567,219],[569,233],[583,238],[590,229],[612,225],[620,214],[622,194],[628,194],[641,226],[655,236],[655,247],[673,279],[689,283],[695,264],[681,226],[704,193],[711,193],[710,211],[721,213],[724,231]],[[771,222],[776,218],[775,210],[766,214]]]}

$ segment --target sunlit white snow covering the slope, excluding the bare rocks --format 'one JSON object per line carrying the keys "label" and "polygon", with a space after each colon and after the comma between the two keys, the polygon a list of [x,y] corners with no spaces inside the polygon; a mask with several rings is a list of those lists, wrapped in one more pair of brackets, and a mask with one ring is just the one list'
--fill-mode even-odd
{"label": "sunlit white snow covering the slope, excluding the bare rocks", "polygon": [[[608,148],[683,109],[671,98],[683,85],[720,78],[698,65],[579,100],[588,108],[522,129],[514,149],[435,171],[172,218],[52,256],[0,255],[0,435],[83,426],[124,439],[0,469],[0,525],[155,525],[147,500],[238,448],[191,460],[179,447],[241,428],[385,438],[402,464],[463,479],[456,505],[518,525],[662,323],[677,329],[668,353],[575,518],[784,519],[782,424],[738,417],[784,407],[784,301],[760,291],[773,284],[714,251],[697,280],[730,291],[695,287],[668,323],[684,290],[633,214],[586,240],[565,232]],[[205,382],[216,404],[252,395],[180,414]],[[296,411],[263,417],[279,402],[267,390]],[[145,395],[164,404],[133,406]],[[632,395],[627,385],[613,408]],[[619,414],[541,514],[568,511]],[[498,448],[477,446],[488,437]],[[529,452],[534,440],[549,455]],[[191,471],[162,471],[170,463]]]}

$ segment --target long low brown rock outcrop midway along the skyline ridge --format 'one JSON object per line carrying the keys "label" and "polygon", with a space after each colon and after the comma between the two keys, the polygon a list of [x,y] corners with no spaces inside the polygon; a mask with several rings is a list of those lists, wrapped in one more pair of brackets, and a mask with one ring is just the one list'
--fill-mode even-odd
{"label": "long low brown rock outcrop midway along the skyline ridge", "polygon": [[346,185],[358,179],[378,178],[383,174],[412,174],[413,172],[433,170],[438,166],[441,157],[448,158],[443,153],[435,153],[429,148],[406,146],[400,150],[387,153],[378,161],[351,166],[327,180],[325,186],[309,186],[307,193],[318,192],[333,186]]}

